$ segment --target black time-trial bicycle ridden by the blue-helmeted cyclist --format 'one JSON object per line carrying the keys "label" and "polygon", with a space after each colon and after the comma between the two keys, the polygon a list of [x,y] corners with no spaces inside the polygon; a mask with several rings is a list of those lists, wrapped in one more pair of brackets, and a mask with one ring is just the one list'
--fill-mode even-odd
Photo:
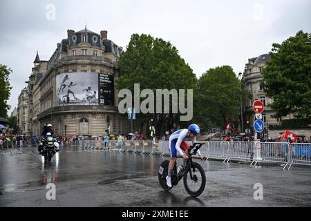
{"label": "black time-trial bicycle ridden by the blue-helmeted cyclist", "polygon": [[206,183],[205,171],[200,164],[192,161],[192,155],[196,155],[196,152],[203,144],[204,143],[194,143],[194,145],[190,146],[188,150],[188,160],[185,164],[178,166],[178,169],[175,163],[173,174],[171,175],[171,187],[167,186],[166,180],[169,160],[164,160],[161,163],[158,171],[158,179],[162,189],[169,191],[173,186],[176,186],[183,177],[184,186],[189,195],[197,197],[204,191]]}

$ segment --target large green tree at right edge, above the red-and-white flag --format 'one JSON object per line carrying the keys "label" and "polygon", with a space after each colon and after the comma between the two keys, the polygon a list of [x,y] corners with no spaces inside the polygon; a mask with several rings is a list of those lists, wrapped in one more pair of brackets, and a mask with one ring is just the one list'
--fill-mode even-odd
{"label": "large green tree at right edge, above the red-and-white flag", "polygon": [[272,44],[263,71],[265,94],[273,99],[274,117],[311,115],[311,35],[302,30],[282,44]]}

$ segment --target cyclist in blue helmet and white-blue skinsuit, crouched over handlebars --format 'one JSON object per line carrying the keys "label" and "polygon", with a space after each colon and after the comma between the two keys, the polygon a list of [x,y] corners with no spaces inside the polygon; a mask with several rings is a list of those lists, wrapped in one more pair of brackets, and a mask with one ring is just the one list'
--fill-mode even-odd
{"label": "cyclist in blue helmet and white-blue skinsuit, crouched over handlebars", "polygon": [[[196,124],[190,124],[187,129],[181,129],[171,134],[169,137],[169,150],[171,151],[171,161],[169,162],[169,175],[167,175],[167,186],[171,187],[171,174],[173,173],[173,167],[177,160],[177,151],[182,155],[185,160],[188,159],[189,144],[188,140],[191,140],[191,143],[196,142],[196,135],[200,133],[200,128]],[[183,152],[185,151],[185,153]],[[206,160],[205,157],[202,157],[200,150],[197,151],[201,160]]]}

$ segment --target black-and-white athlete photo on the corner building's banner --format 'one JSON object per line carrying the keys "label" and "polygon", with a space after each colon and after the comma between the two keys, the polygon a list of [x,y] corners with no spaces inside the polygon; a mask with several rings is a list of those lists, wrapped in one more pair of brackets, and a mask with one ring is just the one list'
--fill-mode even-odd
{"label": "black-and-white athlete photo on the corner building's banner", "polygon": [[98,105],[98,73],[63,73],[56,87],[58,106]]}

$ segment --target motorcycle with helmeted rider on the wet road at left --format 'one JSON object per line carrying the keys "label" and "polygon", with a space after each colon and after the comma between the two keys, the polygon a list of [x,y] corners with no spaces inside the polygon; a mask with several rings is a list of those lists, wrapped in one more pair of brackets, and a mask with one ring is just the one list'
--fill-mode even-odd
{"label": "motorcycle with helmeted rider on the wet road at left", "polygon": [[52,160],[53,155],[59,151],[59,144],[52,137],[52,135],[46,135],[46,137],[41,138],[41,143],[39,144],[42,147],[41,155],[44,156],[44,160],[48,160],[49,162]]}

